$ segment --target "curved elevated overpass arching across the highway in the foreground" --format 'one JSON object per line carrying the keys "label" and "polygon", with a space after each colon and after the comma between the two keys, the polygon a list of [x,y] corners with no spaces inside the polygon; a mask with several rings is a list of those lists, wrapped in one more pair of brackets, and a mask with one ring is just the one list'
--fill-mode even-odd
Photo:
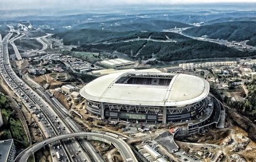
{"label": "curved elevated overpass arching across the highway in the foreground", "polygon": [[109,140],[117,149],[119,150],[119,153],[121,154],[122,158],[126,162],[137,162],[137,158],[135,157],[134,153],[132,152],[129,145],[127,145],[124,140],[119,139],[118,137],[113,137],[108,134],[99,134],[94,132],[79,132],[74,134],[65,134],[65,135],[59,135],[57,137],[53,137],[51,139],[42,140],[41,142],[36,143],[35,145],[32,145],[31,147],[28,147],[27,149],[23,150],[16,158],[16,162],[25,162],[28,160],[28,157],[30,154],[40,150],[40,148],[44,147],[45,145],[48,145],[49,143],[67,139],[71,137],[83,137],[83,136],[94,136],[102,139]]}

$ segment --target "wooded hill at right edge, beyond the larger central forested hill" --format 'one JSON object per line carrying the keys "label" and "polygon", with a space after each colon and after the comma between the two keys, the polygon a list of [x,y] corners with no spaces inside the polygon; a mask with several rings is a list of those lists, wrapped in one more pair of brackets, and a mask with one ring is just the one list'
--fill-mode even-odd
{"label": "wooded hill at right edge, beyond the larger central forested hill", "polygon": [[183,33],[190,36],[208,35],[209,38],[228,41],[249,40],[248,45],[256,45],[256,22],[221,22],[201,27],[189,28]]}

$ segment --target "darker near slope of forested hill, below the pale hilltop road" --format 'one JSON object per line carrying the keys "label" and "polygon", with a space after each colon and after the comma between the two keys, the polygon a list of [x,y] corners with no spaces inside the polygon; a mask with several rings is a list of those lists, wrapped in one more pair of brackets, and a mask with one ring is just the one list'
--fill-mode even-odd
{"label": "darker near slope of forested hill, below the pale hilltop road", "polygon": [[[82,45],[74,51],[117,51],[130,56],[131,59],[150,59],[152,54],[159,61],[178,61],[205,58],[233,58],[254,56],[256,53],[245,53],[224,45],[207,41],[186,40],[177,43],[155,41],[130,41],[111,44]],[[138,53],[139,51],[139,53]],[[138,54],[137,54],[138,53]]]}

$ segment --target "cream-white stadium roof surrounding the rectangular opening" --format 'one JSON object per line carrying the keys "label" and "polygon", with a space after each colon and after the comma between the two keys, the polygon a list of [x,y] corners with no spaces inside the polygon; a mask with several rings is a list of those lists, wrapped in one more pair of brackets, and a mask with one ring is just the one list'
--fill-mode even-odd
{"label": "cream-white stadium roof surrounding the rectangular opening", "polygon": [[[116,83],[127,74],[172,75],[168,86]],[[87,100],[104,103],[149,106],[184,106],[203,100],[209,93],[209,83],[199,77],[186,74],[161,72],[119,72],[93,80],[80,90]]]}

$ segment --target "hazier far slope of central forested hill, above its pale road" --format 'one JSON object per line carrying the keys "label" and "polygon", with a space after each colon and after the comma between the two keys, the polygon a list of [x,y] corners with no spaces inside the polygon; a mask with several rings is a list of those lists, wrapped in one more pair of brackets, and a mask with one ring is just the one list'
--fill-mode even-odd
{"label": "hazier far slope of central forested hill, above its pale road", "polygon": [[132,39],[147,39],[151,35],[151,39],[168,40],[187,40],[186,36],[170,32],[113,32],[108,30],[69,30],[67,32],[57,33],[53,37],[63,39],[64,45],[87,45],[95,43],[117,43],[119,41],[127,41]]}

